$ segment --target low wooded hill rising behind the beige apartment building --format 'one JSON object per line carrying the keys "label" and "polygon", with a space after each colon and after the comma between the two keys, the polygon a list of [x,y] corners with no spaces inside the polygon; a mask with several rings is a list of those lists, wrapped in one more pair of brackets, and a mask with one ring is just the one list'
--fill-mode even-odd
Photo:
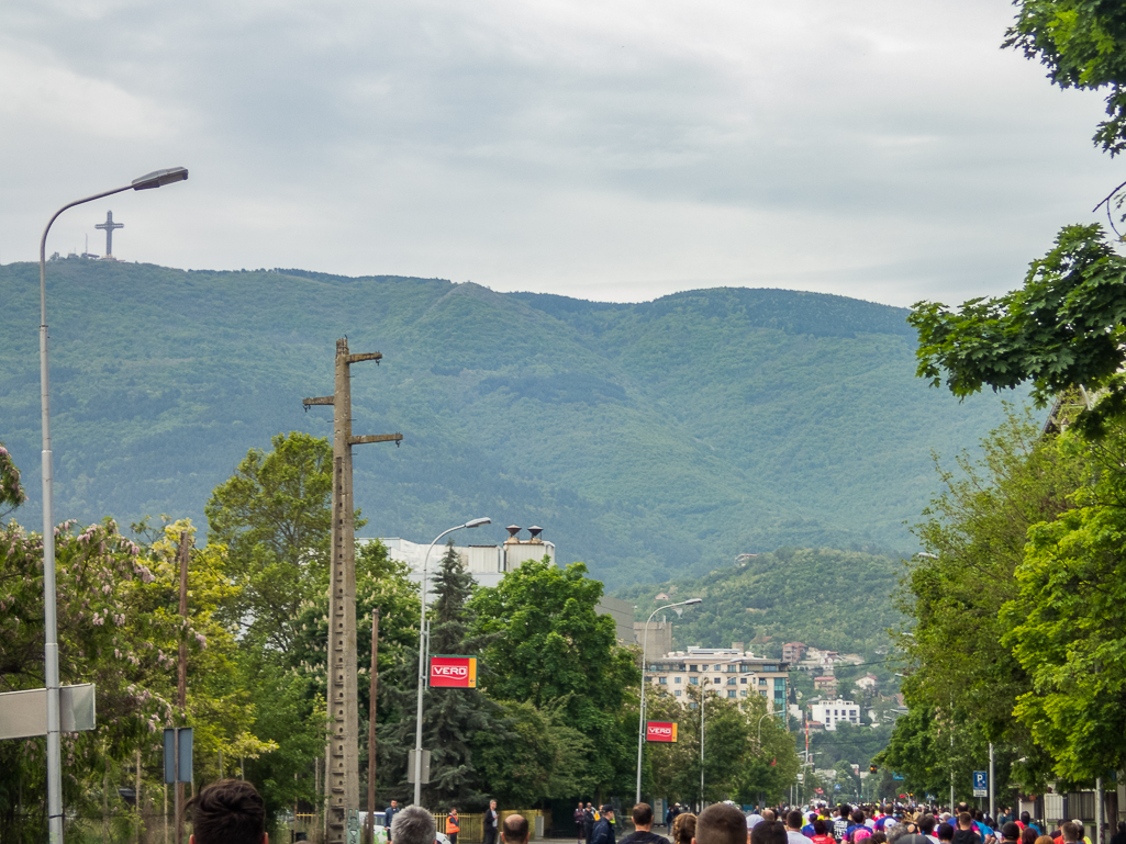
{"label": "low wooded hill rising behind the beige apartment building", "polygon": [[[903,572],[903,562],[886,555],[779,548],[700,577],[634,584],[616,594],[634,602],[641,620],[660,604],[704,599],[680,618],[667,613],[678,649],[741,641],[777,658],[783,643],[803,641],[856,653],[878,665],[884,655],[877,652],[887,645],[885,630],[901,620],[890,595]],[[668,601],[655,600],[662,593]]]}

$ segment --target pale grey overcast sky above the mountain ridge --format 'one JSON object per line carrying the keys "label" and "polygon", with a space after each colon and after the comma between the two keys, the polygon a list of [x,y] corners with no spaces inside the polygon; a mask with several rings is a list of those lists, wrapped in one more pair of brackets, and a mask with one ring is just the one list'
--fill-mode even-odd
{"label": "pale grey overcast sky above the mountain ridge", "polygon": [[[0,262],[716,286],[1019,287],[1121,181],[1004,0],[6,0]],[[2,303],[0,303],[2,306]]]}

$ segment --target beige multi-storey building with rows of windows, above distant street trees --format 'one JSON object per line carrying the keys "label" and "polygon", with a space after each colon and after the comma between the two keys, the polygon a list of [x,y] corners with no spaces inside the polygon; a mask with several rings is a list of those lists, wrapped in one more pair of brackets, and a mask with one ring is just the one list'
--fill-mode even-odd
{"label": "beige multi-storey building with rows of windows, above distant street trees", "polygon": [[645,682],[674,698],[687,698],[690,686],[706,685],[724,698],[766,698],[767,710],[783,712],[789,693],[788,666],[736,648],[688,648],[645,663]]}

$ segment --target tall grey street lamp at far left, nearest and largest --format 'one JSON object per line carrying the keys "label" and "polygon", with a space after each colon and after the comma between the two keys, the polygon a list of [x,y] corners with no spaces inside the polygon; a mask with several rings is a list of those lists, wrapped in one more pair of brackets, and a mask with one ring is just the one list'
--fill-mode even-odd
{"label": "tall grey street lamp at far left, nearest and largest", "polygon": [[77,199],[56,210],[39,240],[39,402],[43,411],[43,673],[47,691],[47,833],[51,844],[63,841],[62,757],[59,730],[59,622],[55,603],[54,477],[51,455],[51,390],[47,377],[47,232],[59,215],[75,205],[92,203],[124,190],[148,190],[184,181],[182,167],[155,170],[124,188]]}

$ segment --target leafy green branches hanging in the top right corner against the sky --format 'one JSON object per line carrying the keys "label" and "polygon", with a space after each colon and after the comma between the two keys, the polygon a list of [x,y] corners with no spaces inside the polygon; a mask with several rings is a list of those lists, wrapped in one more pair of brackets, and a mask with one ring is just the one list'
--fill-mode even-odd
{"label": "leafy green branches hanging in the top right corner against the sky", "polygon": [[1109,88],[1107,119],[1094,142],[1111,155],[1126,149],[1126,10],[1115,0],[1018,0],[1006,46],[1048,69],[1060,88]]}

